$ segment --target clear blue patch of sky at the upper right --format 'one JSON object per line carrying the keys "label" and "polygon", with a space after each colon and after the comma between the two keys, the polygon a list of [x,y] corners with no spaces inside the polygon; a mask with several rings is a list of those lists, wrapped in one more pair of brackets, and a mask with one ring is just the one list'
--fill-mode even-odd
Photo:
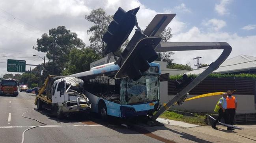
{"label": "clear blue patch of sky at the upper right", "polygon": [[[230,0],[225,6],[229,14],[223,15],[215,11],[215,4],[220,3],[220,0],[159,0],[157,2],[155,0],[140,0],[140,2],[146,7],[162,13],[165,9],[172,7],[172,12],[177,13],[179,20],[191,26],[202,27],[204,20],[216,18],[224,20],[227,24],[222,31],[237,33],[241,36],[253,35],[256,32],[256,29],[241,29],[246,25],[256,24],[255,0]],[[185,4],[191,12],[174,8],[181,4]]]}

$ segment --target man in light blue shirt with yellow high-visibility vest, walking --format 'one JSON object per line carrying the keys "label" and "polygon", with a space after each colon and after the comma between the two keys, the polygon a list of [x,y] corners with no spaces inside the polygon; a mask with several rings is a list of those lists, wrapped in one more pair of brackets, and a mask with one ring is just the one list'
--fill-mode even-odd
{"label": "man in light blue shirt with yellow high-visibility vest, walking", "polygon": [[225,123],[227,123],[227,101],[226,101],[226,98],[227,98],[227,93],[223,93],[222,94],[222,98],[219,99],[219,101],[217,102],[217,105],[215,106],[215,109],[214,111],[215,112],[219,112],[219,116],[218,118],[214,121],[213,125],[211,126],[213,129],[215,130],[218,130],[218,128],[216,127],[216,124],[218,123],[218,121],[220,121],[220,119],[222,117],[224,117],[224,120],[225,120]]}

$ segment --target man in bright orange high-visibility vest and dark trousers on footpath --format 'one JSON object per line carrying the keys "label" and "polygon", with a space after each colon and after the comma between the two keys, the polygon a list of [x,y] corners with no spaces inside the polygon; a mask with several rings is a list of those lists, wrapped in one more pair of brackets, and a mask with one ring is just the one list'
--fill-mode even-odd
{"label": "man in bright orange high-visibility vest and dark trousers on footpath", "polygon": [[[228,124],[233,125],[235,117],[235,109],[237,109],[237,101],[234,96],[232,96],[232,91],[228,91],[227,97],[227,112],[228,112]],[[228,127],[228,130],[234,130]]]}

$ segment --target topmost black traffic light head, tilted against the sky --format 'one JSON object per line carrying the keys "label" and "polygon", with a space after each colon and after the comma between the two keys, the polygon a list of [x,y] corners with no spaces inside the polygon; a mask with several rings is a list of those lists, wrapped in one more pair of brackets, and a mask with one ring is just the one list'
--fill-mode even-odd
{"label": "topmost black traffic light head, tilted against the sky", "polygon": [[103,54],[117,51],[123,42],[128,38],[137,19],[136,13],[140,7],[125,12],[121,7],[114,14],[113,21],[108,25],[108,30],[104,34],[102,40],[107,43]]}

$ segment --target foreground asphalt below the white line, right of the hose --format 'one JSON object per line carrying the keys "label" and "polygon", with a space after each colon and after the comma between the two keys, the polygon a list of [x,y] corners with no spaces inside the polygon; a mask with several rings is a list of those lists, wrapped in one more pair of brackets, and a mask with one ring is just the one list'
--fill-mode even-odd
{"label": "foreground asphalt below the white line, right of the hose", "polygon": [[[27,138],[26,138],[27,137]],[[138,132],[120,126],[79,126],[79,127],[38,127],[26,133],[26,142],[61,142],[61,143],[121,143],[121,142],[150,142],[161,143]]]}

